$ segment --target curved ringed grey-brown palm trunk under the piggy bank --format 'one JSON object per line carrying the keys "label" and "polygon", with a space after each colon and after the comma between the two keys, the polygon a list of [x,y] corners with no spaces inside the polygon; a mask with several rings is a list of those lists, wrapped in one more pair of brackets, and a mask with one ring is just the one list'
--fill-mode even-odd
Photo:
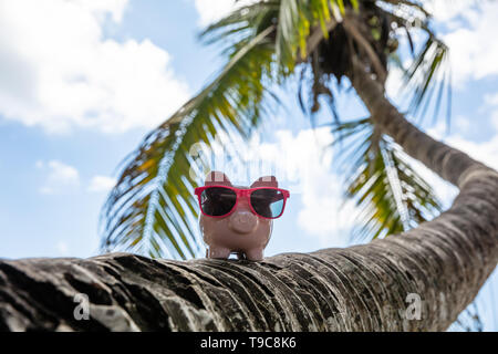
{"label": "curved ringed grey-brown palm trunk under the piggy bank", "polygon": [[[446,330],[497,264],[498,174],[418,131],[355,67],[353,86],[382,132],[460,188],[448,211],[403,237],[263,262],[3,260],[0,330]],[[89,320],[76,320],[77,293]]]}

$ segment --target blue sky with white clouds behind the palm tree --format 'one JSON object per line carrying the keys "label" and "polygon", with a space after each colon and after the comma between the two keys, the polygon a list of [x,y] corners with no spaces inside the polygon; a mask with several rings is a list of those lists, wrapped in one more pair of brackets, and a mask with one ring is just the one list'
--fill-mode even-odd
{"label": "blue sky with white clouds behind the palm tree", "polygon": [[[428,6],[452,51],[453,121],[449,133],[442,118],[424,127],[498,168],[498,44],[485,41],[498,33],[498,4],[442,2]],[[0,257],[97,253],[98,212],[118,163],[220,67],[216,49],[196,35],[230,4],[0,0]],[[398,75],[390,77],[394,101]],[[278,111],[255,146],[288,152],[289,168],[299,171],[307,163],[313,178],[295,187],[288,175],[279,177],[297,192],[274,222],[266,254],[345,246],[354,207],[342,205],[340,176],[315,157],[330,132],[310,129],[292,90],[282,97],[287,110]],[[356,97],[340,98],[342,116],[365,114]],[[333,164],[333,156],[325,158]],[[455,189],[418,168],[448,205]],[[491,288],[483,291],[483,305]],[[485,321],[498,329],[496,319]]]}

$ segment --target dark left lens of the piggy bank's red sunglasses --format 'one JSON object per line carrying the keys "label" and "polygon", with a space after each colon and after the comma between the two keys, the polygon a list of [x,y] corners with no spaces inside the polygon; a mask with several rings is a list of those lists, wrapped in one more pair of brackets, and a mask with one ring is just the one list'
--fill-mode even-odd
{"label": "dark left lens of the piggy bank's red sunglasses", "polygon": [[224,187],[206,188],[200,194],[200,207],[204,214],[220,217],[231,211],[237,201],[237,194]]}

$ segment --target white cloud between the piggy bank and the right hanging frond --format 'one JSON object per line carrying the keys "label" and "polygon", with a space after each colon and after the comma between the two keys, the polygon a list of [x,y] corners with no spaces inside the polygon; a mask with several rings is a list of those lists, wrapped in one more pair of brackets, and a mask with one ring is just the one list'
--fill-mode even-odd
{"label": "white cloud between the piggy bank and the right hanging frond", "polygon": [[357,210],[351,200],[344,200],[342,179],[331,170],[333,155],[326,148],[333,140],[330,128],[305,129],[295,136],[279,131],[276,135],[277,143],[262,144],[262,148],[266,156],[273,156],[281,165],[287,179],[293,181],[294,198],[301,198],[303,207],[298,214],[298,225],[308,235],[318,237],[323,247],[345,246],[344,235],[354,226]]}

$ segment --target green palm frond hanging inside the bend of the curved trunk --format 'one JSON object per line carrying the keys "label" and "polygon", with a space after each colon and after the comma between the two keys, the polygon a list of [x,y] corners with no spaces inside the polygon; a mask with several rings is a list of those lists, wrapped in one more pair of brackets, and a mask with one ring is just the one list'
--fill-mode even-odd
{"label": "green palm frond hanging inside the bend of the curved trunk", "polygon": [[440,212],[430,186],[403,150],[376,132],[370,118],[336,124],[333,132],[346,176],[346,197],[360,208],[355,238],[398,233]]}

